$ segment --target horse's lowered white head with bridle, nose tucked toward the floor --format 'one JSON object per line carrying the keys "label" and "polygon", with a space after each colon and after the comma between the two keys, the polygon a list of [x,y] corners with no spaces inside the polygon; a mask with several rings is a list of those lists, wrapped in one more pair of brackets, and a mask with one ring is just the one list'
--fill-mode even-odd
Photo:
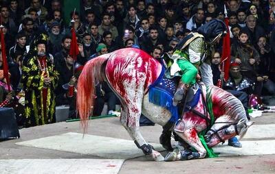
{"label": "horse's lowered white head with bridle, nose tucked toward the floor", "polygon": [[253,124],[252,121],[248,121],[246,118],[240,119],[238,123],[225,121],[224,118],[226,118],[226,116],[217,119],[211,129],[204,136],[208,147],[213,147],[219,144],[219,142],[224,142],[236,135],[239,135],[242,138],[248,131],[248,127]]}

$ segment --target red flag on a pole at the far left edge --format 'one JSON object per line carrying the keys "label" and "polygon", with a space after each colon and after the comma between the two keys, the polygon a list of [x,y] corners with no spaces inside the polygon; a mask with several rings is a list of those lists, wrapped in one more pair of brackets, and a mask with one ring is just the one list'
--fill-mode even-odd
{"label": "red flag on a pole at the far left edge", "polygon": [[3,60],[3,75],[5,77],[5,80],[7,81],[8,91],[10,92],[10,77],[8,75],[8,60],[5,53],[5,39],[3,34],[3,27],[0,28],[0,36],[1,36],[1,51],[2,51],[2,60]]}

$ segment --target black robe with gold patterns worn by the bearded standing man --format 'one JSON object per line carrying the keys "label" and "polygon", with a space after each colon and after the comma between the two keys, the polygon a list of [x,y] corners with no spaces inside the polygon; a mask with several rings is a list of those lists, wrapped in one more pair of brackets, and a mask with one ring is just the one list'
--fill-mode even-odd
{"label": "black robe with gold patterns worn by the bearded standing man", "polygon": [[52,79],[52,82],[47,87],[47,102],[43,102],[45,85],[43,83],[43,70],[39,66],[39,58],[37,55],[30,54],[23,60],[22,82],[25,90],[26,127],[55,122],[54,89],[57,86],[58,72],[54,70],[54,65],[49,57],[46,58],[46,62],[46,69],[43,70],[47,73],[47,77]]}

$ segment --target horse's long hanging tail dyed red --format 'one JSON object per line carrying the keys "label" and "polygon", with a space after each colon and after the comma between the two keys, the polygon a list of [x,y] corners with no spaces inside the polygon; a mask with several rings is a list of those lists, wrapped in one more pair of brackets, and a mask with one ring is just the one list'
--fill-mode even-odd
{"label": "horse's long hanging tail dyed red", "polygon": [[78,92],[76,97],[76,109],[80,116],[80,124],[84,132],[87,131],[89,116],[94,109],[95,86],[97,82],[104,80],[102,64],[107,60],[104,57],[98,57],[85,64],[80,77],[78,78]]}

